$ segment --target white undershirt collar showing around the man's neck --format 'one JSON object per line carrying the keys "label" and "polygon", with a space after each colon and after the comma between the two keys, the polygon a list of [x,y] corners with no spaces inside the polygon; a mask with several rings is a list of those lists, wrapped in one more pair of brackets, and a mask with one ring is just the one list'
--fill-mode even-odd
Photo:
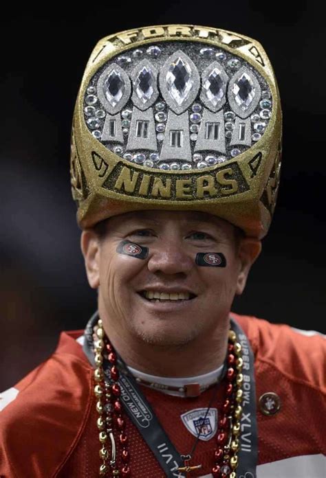
{"label": "white undershirt collar showing around the man's neck", "polygon": [[[221,377],[223,364],[219,368],[213,370],[212,372],[208,372],[208,374],[197,375],[193,377],[177,377],[177,378],[161,377],[156,375],[145,374],[144,372],[140,372],[139,370],[136,370],[133,367],[128,367],[128,369],[130,370],[131,374],[133,374],[133,376],[136,378],[136,380],[137,378],[140,378],[141,380],[146,380],[146,382],[159,383],[160,385],[171,385],[172,387],[180,387],[180,388],[184,387],[184,385],[188,385],[189,383],[199,383],[199,387],[208,387],[209,385],[212,385],[213,383],[217,382],[217,380],[219,380],[219,378]],[[162,391],[164,394],[167,394],[167,395],[173,395],[177,397],[184,396],[183,391],[157,389],[155,387],[150,387],[150,388],[154,388],[155,390]]]}

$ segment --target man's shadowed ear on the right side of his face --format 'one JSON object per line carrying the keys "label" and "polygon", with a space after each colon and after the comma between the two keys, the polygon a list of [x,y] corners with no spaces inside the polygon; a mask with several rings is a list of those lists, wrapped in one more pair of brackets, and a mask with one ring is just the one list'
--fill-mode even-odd
{"label": "man's shadowed ear on the right side of his face", "polygon": [[247,277],[254,261],[261,253],[261,241],[258,239],[242,238],[239,244],[239,273],[235,293],[241,295],[246,287]]}

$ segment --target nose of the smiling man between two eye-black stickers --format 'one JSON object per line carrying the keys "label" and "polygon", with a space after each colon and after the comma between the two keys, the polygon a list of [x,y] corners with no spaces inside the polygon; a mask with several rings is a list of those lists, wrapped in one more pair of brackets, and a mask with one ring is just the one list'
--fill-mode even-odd
{"label": "nose of the smiling man between two eye-black stickers", "polygon": [[148,268],[151,273],[187,274],[195,264],[191,254],[179,241],[166,240],[149,251]]}

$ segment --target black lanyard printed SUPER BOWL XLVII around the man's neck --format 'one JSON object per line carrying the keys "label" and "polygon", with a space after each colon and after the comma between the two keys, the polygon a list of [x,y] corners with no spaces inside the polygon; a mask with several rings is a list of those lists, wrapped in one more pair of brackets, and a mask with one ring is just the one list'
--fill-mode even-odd
{"label": "black lanyard printed SUPER BOWL XLVII around the man's neck", "polygon": [[[93,328],[98,321],[98,312],[87,323],[85,329],[85,342],[83,350],[91,365],[94,363],[93,350]],[[256,478],[257,466],[257,421],[256,421],[256,396],[254,386],[254,356],[250,344],[239,325],[231,319],[232,330],[237,334],[242,350],[243,358],[243,402],[241,418],[241,435],[239,451],[239,466],[237,475],[244,475],[246,478]],[[121,389],[121,402],[127,415],[135,424],[145,442],[151,448],[157,462],[164,470],[166,477],[184,478],[184,475],[177,471],[183,466],[180,453],[177,452],[162,425],[157,420],[151,405],[142,394],[133,375],[129,372],[122,358],[118,356],[120,378],[118,384]],[[246,365],[245,365],[246,364]],[[103,361],[103,369],[108,381],[111,381],[108,361]],[[247,475],[246,475],[247,473]],[[251,473],[251,475],[249,475]]]}

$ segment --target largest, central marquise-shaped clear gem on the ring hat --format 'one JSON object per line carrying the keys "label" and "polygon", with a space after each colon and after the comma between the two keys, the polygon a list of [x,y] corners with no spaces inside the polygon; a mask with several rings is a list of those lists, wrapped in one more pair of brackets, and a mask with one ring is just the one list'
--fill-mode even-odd
{"label": "largest, central marquise-shaped clear gem on the ring hat", "polygon": [[171,63],[166,73],[166,85],[171,97],[180,106],[193,87],[191,67],[182,58],[178,57]]}

